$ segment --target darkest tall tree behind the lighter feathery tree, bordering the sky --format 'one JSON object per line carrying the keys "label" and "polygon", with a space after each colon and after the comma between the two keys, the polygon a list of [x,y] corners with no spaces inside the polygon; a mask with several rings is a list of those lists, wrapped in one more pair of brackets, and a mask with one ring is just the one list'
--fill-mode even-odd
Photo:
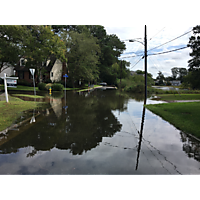
{"label": "darkest tall tree behind the lighter feathery tree, bordering the sky", "polygon": [[107,35],[106,30],[101,25],[52,25],[56,34],[62,35],[63,32],[87,33],[96,38],[96,44],[100,47],[98,71],[99,80],[112,84],[112,65],[119,64],[118,57],[126,49],[125,43],[121,42],[116,35]]}

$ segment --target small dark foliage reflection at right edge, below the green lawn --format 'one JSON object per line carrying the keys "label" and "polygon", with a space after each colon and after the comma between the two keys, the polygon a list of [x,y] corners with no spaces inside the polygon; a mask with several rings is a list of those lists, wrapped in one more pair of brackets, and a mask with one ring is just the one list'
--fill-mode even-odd
{"label": "small dark foliage reflection at right edge, below the green lawn", "polygon": [[183,151],[186,152],[189,158],[200,161],[200,143],[183,132],[180,132],[180,135],[183,142]]}

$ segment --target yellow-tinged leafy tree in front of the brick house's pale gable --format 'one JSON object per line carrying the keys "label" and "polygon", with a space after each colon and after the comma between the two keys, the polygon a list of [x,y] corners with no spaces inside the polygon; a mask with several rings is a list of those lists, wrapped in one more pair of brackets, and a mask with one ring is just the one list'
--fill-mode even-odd
{"label": "yellow-tinged leafy tree in front of the brick house's pale gable", "polygon": [[62,62],[66,62],[66,47],[59,36],[54,35],[50,26],[24,25],[26,27],[26,40],[23,41],[23,57],[27,59],[26,66],[34,67],[39,76],[44,71],[44,63],[50,55],[54,55]]}

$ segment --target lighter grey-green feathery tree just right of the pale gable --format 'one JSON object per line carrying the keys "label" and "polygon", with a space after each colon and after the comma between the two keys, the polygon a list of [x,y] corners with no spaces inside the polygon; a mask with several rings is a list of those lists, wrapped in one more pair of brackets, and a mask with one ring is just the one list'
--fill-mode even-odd
{"label": "lighter grey-green feathery tree just right of the pale gable", "polygon": [[98,60],[100,48],[96,38],[87,31],[78,33],[65,31],[61,34],[68,52],[68,70],[72,85],[74,81],[94,81],[99,77]]}

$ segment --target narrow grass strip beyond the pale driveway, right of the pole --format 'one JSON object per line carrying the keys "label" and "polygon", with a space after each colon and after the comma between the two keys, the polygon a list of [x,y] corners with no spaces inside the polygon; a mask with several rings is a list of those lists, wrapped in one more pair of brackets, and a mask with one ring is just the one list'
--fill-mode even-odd
{"label": "narrow grass strip beyond the pale driveway, right of the pole", "polygon": [[200,100],[200,94],[160,94],[159,97],[163,101]]}

